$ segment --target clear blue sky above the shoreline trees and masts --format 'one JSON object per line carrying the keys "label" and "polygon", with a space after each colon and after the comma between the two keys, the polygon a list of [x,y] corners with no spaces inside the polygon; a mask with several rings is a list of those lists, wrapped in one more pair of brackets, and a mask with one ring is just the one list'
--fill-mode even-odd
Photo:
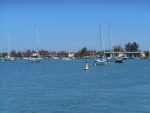
{"label": "clear blue sky above the shoreline trees and masts", "polygon": [[[124,47],[137,42],[150,49],[150,0],[0,0],[0,47],[77,52],[104,49],[111,42]],[[37,30],[35,28],[37,26]]]}

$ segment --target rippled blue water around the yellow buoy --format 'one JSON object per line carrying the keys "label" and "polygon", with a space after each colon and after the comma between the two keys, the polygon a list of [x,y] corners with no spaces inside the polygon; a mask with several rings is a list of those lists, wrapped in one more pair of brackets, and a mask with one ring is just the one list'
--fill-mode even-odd
{"label": "rippled blue water around the yellow buoy", "polygon": [[149,80],[148,60],[0,62],[0,113],[149,113]]}

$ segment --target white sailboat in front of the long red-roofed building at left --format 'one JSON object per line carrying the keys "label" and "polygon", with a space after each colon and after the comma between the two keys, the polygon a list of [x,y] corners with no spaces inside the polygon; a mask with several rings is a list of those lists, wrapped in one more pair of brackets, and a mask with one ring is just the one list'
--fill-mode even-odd
{"label": "white sailboat in front of the long red-roofed building at left", "polygon": [[[38,29],[37,29],[37,26],[35,26],[35,38],[36,38],[36,46],[39,45],[38,43],[38,39],[39,39],[39,34],[38,34]],[[38,47],[37,47],[38,48]],[[42,61],[42,57],[40,56],[40,54],[38,52],[35,52],[33,53],[30,58],[29,58],[29,61],[32,62],[32,63],[40,63]]]}

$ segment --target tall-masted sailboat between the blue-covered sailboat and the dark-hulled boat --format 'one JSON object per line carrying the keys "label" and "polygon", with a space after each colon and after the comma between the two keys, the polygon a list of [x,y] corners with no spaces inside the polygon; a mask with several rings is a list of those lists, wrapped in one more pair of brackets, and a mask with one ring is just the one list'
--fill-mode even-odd
{"label": "tall-masted sailboat between the blue-covered sailboat and the dark-hulled boat", "polygon": [[115,58],[113,55],[113,46],[112,46],[112,39],[111,39],[111,27],[109,24],[109,40],[110,40],[110,56],[107,57],[107,62],[115,62]]}

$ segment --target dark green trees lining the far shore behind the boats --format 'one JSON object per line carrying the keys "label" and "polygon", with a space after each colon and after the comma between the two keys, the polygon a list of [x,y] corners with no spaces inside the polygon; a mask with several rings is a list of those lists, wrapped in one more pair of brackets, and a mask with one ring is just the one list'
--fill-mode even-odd
{"label": "dark green trees lining the far shore behind the boats", "polygon": [[[114,51],[114,52],[140,52],[139,50],[139,44],[137,44],[136,42],[128,42],[127,44],[124,45],[124,48],[121,47],[120,45],[115,45],[111,48],[111,50],[105,50],[105,52],[111,52],[111,51]],[[30,50],[28,49],[26,52],[36,52],[35,50]],[[40,50],[38,51],[39,54],[42,54],[43,52],[48,52],[47,50]],[[65,51],[61,51],[61,52],[65,52]],[[79,50],[78,52],[75,52],[75,57],[84,57],[87,55],[87,53],[96,53],[96,54],[101,54],[101,53],[104,53],[104,50],[103,51],[97,51],[96,50],[88,50],[87,47],[83,47],[81,50]],[[145,52],[145,55],[146,57],[149,56],[149,51],[144,51]],[[7,53],[3,53],[2,56],[7,56]],[[22,57],[22,52],[21,51],[18,51],[16,52],[15,50],[12,50],[11,51],[11,56],[12,57],[19,57],[21,58]]]}

